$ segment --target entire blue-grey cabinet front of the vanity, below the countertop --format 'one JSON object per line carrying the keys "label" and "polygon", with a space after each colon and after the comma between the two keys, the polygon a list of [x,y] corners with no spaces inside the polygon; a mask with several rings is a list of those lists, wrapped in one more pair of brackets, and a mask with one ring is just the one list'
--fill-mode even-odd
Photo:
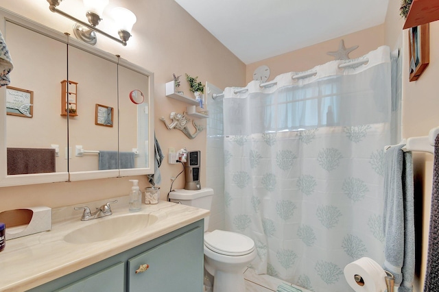
{"label": "entire blue-grey cabinet front of the vanity, below the countertop", "polygon": [[[204,219],[201,219],[130,250],[30,289],[28,292],[202,292],[203,230]],[[145,262],[143,262],[144,260]],[[144,263],[149,264],[150,269],[144,273],[136,274],[135,271]],[[130,277],[132,279],[128,282]],[[83,282],[87,285],[97,284],[98,286],[93,286],[95,289],[89,288],[92,286],[84,286],[86,288],[83,288]]]}

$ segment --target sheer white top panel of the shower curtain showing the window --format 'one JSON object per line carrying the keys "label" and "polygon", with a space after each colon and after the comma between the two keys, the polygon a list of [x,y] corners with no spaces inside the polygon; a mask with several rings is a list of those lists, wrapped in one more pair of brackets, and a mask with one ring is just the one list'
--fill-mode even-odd
{"label": "sheer white top panel of the shower curtain showing the window", "polygon": [[[364,60],[364,64],[340,68],[340,64]],[[390,49],[379,47],[355,60],[336,60],[294,78],[289,72],[262,88],[252,81],[248,91],[224,90],[224,119],[232,119],[224,134],[310,129],[332,125],[355,126],[390,121]],[[246,121],[251,121],[247,123]]]}

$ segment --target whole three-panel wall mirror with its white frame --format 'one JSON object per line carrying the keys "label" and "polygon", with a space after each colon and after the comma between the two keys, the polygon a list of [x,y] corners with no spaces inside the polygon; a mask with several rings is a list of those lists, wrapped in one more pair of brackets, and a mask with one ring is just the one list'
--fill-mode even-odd
{"label": "whole three-panel wall mirror with its white frame", "polygon": [[0,9],[0,186],[154,173],[153,74]]}

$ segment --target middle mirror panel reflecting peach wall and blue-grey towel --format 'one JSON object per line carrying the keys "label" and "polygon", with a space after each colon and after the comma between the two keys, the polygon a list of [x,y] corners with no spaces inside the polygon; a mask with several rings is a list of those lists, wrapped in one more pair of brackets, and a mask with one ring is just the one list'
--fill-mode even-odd
{"label": "middle mirror panel reflecting peach wall and blue-grey towel", "polygon": [[[100,108],[117,108],[117,63],[69,45],[69,80],[77,114],[69,116],[69,144],[74,149],[70,172],[117,169],[117,115],[112,127],[102,127]],[[82,146],[82,156],[76,154]],[[102,158],[102,156],[106,156]],[[113,159],[115,159],[113,161]]]}

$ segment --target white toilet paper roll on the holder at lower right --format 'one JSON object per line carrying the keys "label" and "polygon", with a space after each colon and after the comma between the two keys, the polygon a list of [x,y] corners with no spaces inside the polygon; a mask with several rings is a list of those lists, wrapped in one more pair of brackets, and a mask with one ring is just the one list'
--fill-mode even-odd
{"label": "white toilet paper roll on the holder at lower right", "polygon": [[356,292],[384,292],[386,273],[372,258],[360,258],[344,267],[344,278]]}

